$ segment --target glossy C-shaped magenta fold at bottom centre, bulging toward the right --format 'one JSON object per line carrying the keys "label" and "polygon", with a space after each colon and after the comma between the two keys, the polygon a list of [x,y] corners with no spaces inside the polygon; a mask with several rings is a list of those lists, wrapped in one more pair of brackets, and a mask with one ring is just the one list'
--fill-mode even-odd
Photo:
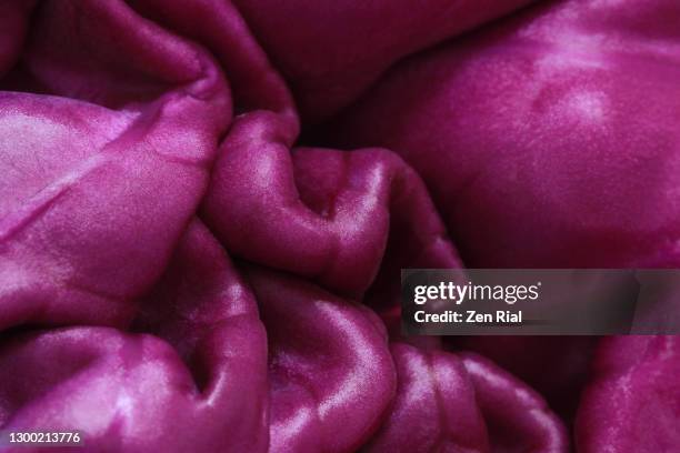
{"label": "glossy C-shaped magenta fold at bottom centre, bulging toward the right", "polygon": [[248,268],[269,342],[271,452],[351,452],[394,395],[384,328],[367,308]]}

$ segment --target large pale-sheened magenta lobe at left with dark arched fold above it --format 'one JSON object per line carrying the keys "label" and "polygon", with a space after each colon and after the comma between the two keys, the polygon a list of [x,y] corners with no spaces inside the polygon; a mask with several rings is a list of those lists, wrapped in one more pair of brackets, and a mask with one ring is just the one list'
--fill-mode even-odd
{"label": "large pale-sheened magenta lobe at left with dark arched fold above it", "polygon": [[3,83],[54,97],[0,93],[0,329],[124,325],[194,214],[229,92],[124,3],[48,1],[32,20]]}

